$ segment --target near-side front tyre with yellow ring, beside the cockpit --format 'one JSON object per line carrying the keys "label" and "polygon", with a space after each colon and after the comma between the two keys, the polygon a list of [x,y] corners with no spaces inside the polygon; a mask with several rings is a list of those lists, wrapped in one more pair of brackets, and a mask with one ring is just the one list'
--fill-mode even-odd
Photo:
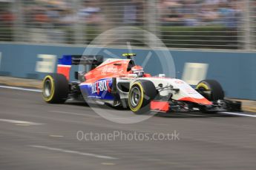
{"label": "near-side front tyre with yellow ring, beside the cockpit", "polygon": [[150,102],[158,92],[151,81],[135,81],[129,90],[128,106],[135,114],[142,115],[150,110]]}

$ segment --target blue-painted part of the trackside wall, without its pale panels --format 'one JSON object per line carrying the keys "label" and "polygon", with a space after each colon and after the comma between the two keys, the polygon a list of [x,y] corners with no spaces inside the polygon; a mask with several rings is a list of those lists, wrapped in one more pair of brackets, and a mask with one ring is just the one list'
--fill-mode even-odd
{"label": "blue-painted part of the trackside wall, without its pale panels", "polygon": [[[126,49],[107,49],[115,55],[121,56],[128,52]],[[39,54],[56,55],[61,58],[63,54],[82,55],[85,47],[58,47],[30,44],[0,44],[1,65],[0,75],[19,78],[42,79],[47,73],[36,72],[36,62],[42,60]],[[136,61],[141,64],[149,50],[133,50],[137,53]],[[176,67],[176,77],[181,78],[185,63],[209,64],[206,78],[216,79],[223,85],[226,96],[230,98],[244,98],[256,100],[256,53],[255,52],[203,52],[171,50]],[[92,54],[93,55],[93,54]],[[102,50],[99,55],[106,55]],[[140,57],[139,57],[140,56]],[[167,61],[168,62],[168,61]],[[170,58],[171,62],[171,58]],[[160,61],[154,58],[145,67],[146,72],[152,75],[163,70]],[[56,67],[55,67],[56,69]]]}

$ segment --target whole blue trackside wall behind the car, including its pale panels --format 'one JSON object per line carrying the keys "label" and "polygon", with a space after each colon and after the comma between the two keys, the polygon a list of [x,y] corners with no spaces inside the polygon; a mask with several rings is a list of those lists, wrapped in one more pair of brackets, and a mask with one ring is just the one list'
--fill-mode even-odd
{"label": "whole blue trackside wall behind the car, including its pale panels", "polygon": [[[93,52],[93,49],[91,50]],[[97,55],[104,55],[105,58],[114,56],[122,58],[122,53],[129,52],[127,49],[114,48],[100,50],[96,48],[96,50],[98,50]],[[68,54],[82,55],[83,52],[85,47],[2,43],[0,75],[42,79],[48,72],[56,72],[57,58]],[[171,68],[171,75],[163,68],[161,56],[157,56],[157,52],[152,50],[132,50],[132,52],[137,53],[135,57],[137,64],[144,64],[145,72],[151,75],[165,73],[167,76],[183,78],[192,85],[200,78],[215,79],[222,84],[227,97],[256,100],[256,52],[170,50],[171,55],[167,59],[164,58],[164,62],[175,67],[175,70]],[[151,53],[149,59],[148,53]],[[91,53],[91,55],[96,54]],[[72,71],[77,69],[73,67]]]}

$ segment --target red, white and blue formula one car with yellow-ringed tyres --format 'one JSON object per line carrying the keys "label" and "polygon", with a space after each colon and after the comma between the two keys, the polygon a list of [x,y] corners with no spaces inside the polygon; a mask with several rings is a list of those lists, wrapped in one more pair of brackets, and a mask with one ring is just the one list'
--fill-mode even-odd
{"label": "red, white and blue formula one car with yellow-ringed tyres", "polygon": [[[43,98],[47,103],[64,103],[67,99],[91,99],[123,106],[137,114],[155,112],[223,112],[241,111],[241,103],[224,100],[217,81],[200,81],[195,88],[164,74],[153,77],[136,65],[135,54],[123,54],[125,59],[100,55],[63,55],[57,73],[43,81]],[[82,65],[70,81],[71,65]]]}

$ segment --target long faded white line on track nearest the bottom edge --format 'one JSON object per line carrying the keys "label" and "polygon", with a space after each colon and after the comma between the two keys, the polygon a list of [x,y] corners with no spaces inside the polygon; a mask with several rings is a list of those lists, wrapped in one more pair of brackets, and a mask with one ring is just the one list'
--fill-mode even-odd
{"label": "long faded white line on track nearest the bottom edge", "polygon": [[96,157],[96,158],[102,158],[102,159],[107,159],[107,160],[117,160],[118,159],[116,157],[108,157],[108,156],[104,156],[104,155],[100,155],[100,154],[91,154],[91,153],[86,153],[86,152],[71,151],[71,150],[67,150],[67,149],[52,148],[52,147],[48,147],[48,146],[30,145],[30,147],[39,148],[39,149],[47,149],[50,151],[64,152],[64,153],[69,153],[69,154],[79,154],[79,155],[83,155],[83,156]]}

